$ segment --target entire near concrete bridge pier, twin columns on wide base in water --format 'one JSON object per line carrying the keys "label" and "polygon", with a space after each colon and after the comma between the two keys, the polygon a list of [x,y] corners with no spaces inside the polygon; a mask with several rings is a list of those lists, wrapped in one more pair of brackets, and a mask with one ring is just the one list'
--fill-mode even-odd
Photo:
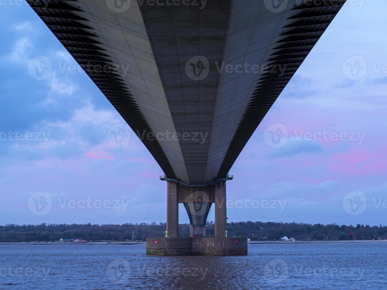
{"label": "entire near concrete bridge pier, twin columns on wide base in water", "polygon": [[[164,238],[147,239],[147,255],[247,255],[247,238],[226,237],[226,181],[232,178],[190,185],[161,176],[160,179],[167,181],[167,232]],[[179,237],[179,203],[184,204],[190,219],[190,237]],[[206,237],[212,203],[215,204],[215,237]]]}

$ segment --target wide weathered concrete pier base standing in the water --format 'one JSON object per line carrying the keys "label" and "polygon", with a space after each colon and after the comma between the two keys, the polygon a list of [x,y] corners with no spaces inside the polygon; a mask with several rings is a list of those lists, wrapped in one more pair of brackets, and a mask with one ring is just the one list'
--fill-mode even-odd
{"label": "wide weathered concrete pier base standing in the water", "polygon": [[247,238],[148,238],[147,256],[246,256]]}

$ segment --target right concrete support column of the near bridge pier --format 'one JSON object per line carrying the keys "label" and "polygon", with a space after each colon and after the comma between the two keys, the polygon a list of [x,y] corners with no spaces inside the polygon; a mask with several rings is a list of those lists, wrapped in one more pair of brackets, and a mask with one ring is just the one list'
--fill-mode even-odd
{"label": "right concrete support column of the near bridge pier", "polygon": [[221,180],[215,186],[215,237],[226,236],[226,181]]}

